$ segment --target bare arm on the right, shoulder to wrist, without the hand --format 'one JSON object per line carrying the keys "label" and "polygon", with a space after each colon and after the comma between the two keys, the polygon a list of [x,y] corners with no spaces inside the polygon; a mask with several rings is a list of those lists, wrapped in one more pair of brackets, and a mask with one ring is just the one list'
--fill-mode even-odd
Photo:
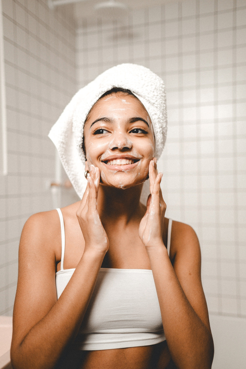
{"label": "bare arm on the right, shoulder to wrist, without the hand", "polygon": [[[187,226],[188,228],[188,226]],[[184,230],[174,268],[166,248],[149,249],[167,344],[180,369],[209,369],[214,347],[201,285],[200,249],[195,232]]]}

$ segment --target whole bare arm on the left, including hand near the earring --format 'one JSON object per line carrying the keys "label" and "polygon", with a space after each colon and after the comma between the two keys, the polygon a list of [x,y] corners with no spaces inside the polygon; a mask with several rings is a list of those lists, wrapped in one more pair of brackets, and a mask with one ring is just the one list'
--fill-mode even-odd
{"label": "whole bare arm on the left, including hand near the earring", "polygon": [[58,300],[51,245],[54,227],[50,225],[55,223],[54,212],[50,216],[36,214],[24,226],[13,314],[11,363],[14,369],[54,368],[82,323],[108,248],[103,227],[99,224],[93,235],[88,225],[95,217],[97,196],[91,179],[86,196],[77,213],[81,227],[88,226],[89,230],[84,230],[85,251]]}

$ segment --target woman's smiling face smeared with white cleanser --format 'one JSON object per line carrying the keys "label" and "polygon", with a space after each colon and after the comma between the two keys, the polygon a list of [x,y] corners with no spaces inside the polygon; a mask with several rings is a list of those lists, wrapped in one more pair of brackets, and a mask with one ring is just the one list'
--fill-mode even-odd
{"label": "woman's smiling face smeared with white cleanser", "polygon": [[122,92],[94,105],[84,125],[87,166],[100,169],[101,184],[126,189],[148,178],[155,137],[142,103]]}

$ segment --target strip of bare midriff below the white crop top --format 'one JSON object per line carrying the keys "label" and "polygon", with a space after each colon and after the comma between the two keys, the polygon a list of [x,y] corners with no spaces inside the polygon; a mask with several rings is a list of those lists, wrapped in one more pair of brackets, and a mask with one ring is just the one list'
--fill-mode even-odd
{"label": "strip of bare midriff below the white crop top", "polygon": [[[75,359],[75,357],[77,358]],[[64,369],[165,369],[171,356],[166,341],[156,345],[98,351],[77,351],[71,354]],[[74,366],[71,361],[76,361]],[[60,366],[59,366],[60,368]],[[62,366],[63,368],[63,366]]]}

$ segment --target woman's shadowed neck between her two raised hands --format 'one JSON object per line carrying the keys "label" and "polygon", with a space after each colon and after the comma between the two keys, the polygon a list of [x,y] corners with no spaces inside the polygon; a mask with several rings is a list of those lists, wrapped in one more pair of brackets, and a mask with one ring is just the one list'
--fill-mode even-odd
{"label": "woman's shadowed neck between her two raised hands", "polygon": [[139,214],[142,205],[140,196],[143,184],[122,190],[115,187],[99,186],[97,208],[100,217],[124,219],[128,223]]}

